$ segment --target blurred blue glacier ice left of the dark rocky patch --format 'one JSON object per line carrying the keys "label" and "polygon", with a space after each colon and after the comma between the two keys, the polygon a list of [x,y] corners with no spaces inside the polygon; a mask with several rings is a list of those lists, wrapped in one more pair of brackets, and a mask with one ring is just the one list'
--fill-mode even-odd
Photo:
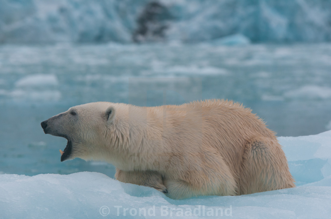
{"label": "blurred blue glacier ice left of the dark rocky patch", "polygon": [[130,42],[147,0],[1,0],[0,42]]}

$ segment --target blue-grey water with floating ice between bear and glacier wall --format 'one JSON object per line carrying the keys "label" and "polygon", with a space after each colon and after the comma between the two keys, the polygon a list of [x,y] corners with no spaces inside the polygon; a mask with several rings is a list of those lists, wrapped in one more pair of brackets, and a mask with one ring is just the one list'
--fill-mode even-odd
{"label": "blue-grey water with floating ice between bear and glacier wall", "polygon": [[88,102],[211,98],[242,102],[278,136],[331,129],[331,44],[1,46],[0,172],[113,176],[112,165],[60,162],[67,141],[40,122]]}

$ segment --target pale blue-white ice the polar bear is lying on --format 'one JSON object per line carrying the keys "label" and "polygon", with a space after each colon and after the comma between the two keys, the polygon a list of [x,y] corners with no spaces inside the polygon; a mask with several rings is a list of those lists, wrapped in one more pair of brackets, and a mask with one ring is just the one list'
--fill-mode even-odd
{"label": "pale blue-white ice the polar bear is lying on", "polygon": [[98,172],[0,174],[0,218],[329,218],[331,131],[278,140],[296,188],[172,200]]}

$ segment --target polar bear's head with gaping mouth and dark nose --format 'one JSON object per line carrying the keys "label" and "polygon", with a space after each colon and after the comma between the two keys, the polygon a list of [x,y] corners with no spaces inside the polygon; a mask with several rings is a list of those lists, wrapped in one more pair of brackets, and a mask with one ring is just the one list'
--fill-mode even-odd
{"label": "polar bear's head with gaping mouth and dark nose", "polygon": [[61,161],[73,158],[94,159],[109,141],[116,118],[116,104],[109,102],[88,103],[71,107],[43,122],[45,134],[59,136],[68,140],[61,152]]}

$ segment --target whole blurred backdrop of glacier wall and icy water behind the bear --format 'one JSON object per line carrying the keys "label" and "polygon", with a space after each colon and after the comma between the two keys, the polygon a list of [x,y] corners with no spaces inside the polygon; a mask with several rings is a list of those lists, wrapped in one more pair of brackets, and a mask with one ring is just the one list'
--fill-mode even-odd
{"label": "whole blurred backdrop of glacier wall and icy water behind the bear", "polygon": [[0,0],[0,173],[60,162],[40,122],[96,101],[242,102],[278,136],[331,129],[329,0]]}

